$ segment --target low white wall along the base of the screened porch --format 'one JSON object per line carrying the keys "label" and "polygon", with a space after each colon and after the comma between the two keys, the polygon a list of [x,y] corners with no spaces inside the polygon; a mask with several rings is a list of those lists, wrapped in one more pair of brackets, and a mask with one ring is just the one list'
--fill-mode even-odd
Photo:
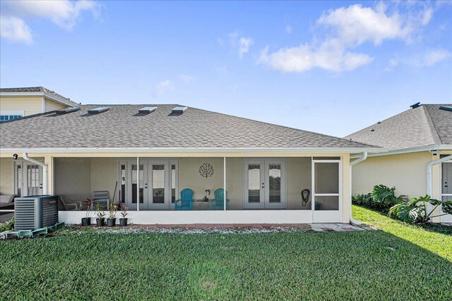
{"label": "low white wall along the base of the screened porch", "polygon": [[[85,211],[59,211],[59,221],[80,223]],[[326,214],[328,215],[328,214]],[[92,216],[94,219],[94,216]],[[135,224],[233,224],[233,223],[311,223],[309,210],[187,210],[129,211],[129,223]]]}

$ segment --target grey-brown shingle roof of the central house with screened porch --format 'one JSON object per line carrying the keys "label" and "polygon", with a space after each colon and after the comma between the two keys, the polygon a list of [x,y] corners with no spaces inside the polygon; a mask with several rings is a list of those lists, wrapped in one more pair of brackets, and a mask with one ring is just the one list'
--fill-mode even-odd
{"label": "grey-brown shingle roof of the central house with screened porch", "polygon": [[[103,113],[89,109],[109,106]],[[153,113],[138,113],[157,106]],[[369,148],[359,142],[176,104],[83,105],[63,115],[41,113],[0,124],[1,148]]]}

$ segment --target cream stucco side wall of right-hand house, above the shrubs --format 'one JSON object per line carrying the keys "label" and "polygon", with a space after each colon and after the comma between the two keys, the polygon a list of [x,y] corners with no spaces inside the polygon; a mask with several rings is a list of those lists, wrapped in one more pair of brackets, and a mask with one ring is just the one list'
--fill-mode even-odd
{"label": "cream stucco side wall of right-hand house, above the shrubs", "polygon": [[371,192],[374,185],[396,186],[396,195],[420,197],[427,193],[429,152],[373,156],[353,167],[352,193]]}

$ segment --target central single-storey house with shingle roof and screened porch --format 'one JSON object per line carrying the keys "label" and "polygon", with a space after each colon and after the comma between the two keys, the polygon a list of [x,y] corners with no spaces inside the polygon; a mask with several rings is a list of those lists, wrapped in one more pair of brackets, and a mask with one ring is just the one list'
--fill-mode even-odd
{"label": "central single-storey house with shingle roof and screened porch", "polygon": [[[133,223],[348,223],[350,155],[383,152],[176,104],[81,105],[7,121],[0,132],[1,194],[83,201],[103,190]],[[176,211],[185,188],[193,206]],[[219,188],[229,202],[210,210],[200,201]],[[84,215],[59,212],[68,223]]]}

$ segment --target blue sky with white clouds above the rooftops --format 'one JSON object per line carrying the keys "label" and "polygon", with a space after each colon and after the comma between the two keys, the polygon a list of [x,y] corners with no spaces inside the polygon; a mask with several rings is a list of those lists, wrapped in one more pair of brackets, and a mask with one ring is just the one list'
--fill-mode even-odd
{"label": "blue sky with white clouds above the rooftops", "polygon": [[416,102],[452,103],[451,1],[0,5],[1,87],[336,136]]}

